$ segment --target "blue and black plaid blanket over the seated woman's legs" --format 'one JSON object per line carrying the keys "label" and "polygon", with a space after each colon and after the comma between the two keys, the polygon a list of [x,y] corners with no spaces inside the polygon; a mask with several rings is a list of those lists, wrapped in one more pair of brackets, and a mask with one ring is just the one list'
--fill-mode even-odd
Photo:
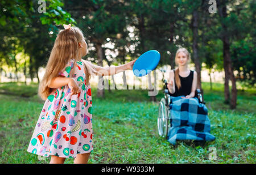
{"label": "blue and black plaid blanket over the seated woman's legs", "polygon": [[197,98],[182,99],[172,97],[170,104],[171,127],[168,142],[176,144],[176,140],[215,140],[210,134],[208,110]]}

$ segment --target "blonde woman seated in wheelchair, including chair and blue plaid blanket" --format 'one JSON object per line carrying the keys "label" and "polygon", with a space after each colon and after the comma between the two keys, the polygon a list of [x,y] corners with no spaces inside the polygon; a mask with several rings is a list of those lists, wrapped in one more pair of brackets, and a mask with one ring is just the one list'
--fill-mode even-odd
{"label": "blonde woman seated in wheelchair, including chair and blue plaid blanket", "polygon": [[159,103],[158,132],[171,144],[176,140],[214,140],[210,134],[208,109],[197,86],[197,73],[188,69],[191,61],[187,49],[176,52],[178,66],[164,80],[164,98]]}

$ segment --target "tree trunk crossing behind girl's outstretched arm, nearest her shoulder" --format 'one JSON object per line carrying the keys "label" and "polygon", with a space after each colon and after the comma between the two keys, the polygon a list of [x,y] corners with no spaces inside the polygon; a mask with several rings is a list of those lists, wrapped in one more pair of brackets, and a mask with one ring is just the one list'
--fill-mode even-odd
{"label": "tree trunk crossing behind girl's outstretched arm, nearest her shoulder", "polygon": [[[97,50],[97,59],[98,59],[98,66],[103,66],[103,50],[101,47],[102,43],[96,43],[96,50]],[[98,76],[98,87],[97,87],[97,97],[104,97],[104,78],[103,76]]]}

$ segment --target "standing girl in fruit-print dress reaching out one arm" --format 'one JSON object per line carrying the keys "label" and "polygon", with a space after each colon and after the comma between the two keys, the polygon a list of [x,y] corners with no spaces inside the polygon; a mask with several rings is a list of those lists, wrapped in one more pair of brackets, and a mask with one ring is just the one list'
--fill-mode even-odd
{"label": "standing girl in fruit-print dress reaching out one arm", "polygon": [[28,145],[28,152],[49,157],[50,163],[87,163],[93,151],[90,75],[114,75],[132,70],[134,61],[101,67],[81,59],[87,44],[81,30],[64,25],[49,56],[38,94],[46,100]]}

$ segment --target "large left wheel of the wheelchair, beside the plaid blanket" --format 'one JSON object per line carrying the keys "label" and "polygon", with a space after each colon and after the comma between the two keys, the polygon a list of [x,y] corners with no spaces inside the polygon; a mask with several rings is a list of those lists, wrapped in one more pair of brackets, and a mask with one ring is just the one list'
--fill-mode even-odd
{"label": "large left wheel of the wheelchair, beside the plaid blanket", "polygon": [[168,108],[164,98],[161,99],[158,108],[158,134],[163,138],[167,138],[168,134]]}

